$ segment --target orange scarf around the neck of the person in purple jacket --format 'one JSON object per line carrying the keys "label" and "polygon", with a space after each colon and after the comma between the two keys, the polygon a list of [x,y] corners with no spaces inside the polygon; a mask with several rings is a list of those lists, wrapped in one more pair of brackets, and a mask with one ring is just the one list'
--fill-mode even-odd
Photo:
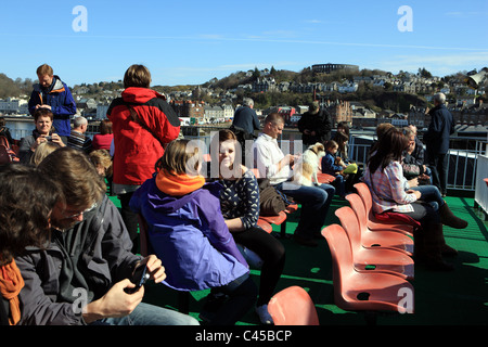
{"label": "orange scarf around the neck of the person in purple jacket", "polygon": [[156,185],[165,194],[171,196],[182,196],[205,184],[203,176],[168,175],[160,170],[156,176]]}

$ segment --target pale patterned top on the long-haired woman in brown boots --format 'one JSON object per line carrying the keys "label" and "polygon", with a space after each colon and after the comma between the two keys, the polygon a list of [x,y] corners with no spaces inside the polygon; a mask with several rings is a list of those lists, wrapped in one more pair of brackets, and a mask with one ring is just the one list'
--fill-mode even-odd
{"label": "pale patterned top on the long-haired woman in brown boots", "polygon": [[381,170],[370,175],[370,168],[367,166],[363,176],[373,197],[373,210],[381,214],[388,209],[397,213],[413,211],[411,203],[416,201],[415,194],[407,194],[409,188],[407,179],[403,177],[403,169],[398,162],[391,162]]}

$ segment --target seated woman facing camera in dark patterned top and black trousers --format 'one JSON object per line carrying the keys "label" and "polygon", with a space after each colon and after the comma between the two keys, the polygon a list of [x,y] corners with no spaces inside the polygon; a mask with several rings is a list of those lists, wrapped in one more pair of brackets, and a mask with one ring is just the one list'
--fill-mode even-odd
{"label": "seated woman facing camera in dark patterned top and black trousers", "polygon": [[[228,129],[220,130],[211,141],[211,162],[219,165],[220,208],[229,231],[237,244],[256,253],[264,261],[261,267],[259,297],[256,312],[261,323],[272,324],[268,312],[278,280],[285,260],[282,243],[257,226],[259,218],[259,188],[253,171],[241,165],[235,134]],[[239,149],[240,150],[240,149]]]}

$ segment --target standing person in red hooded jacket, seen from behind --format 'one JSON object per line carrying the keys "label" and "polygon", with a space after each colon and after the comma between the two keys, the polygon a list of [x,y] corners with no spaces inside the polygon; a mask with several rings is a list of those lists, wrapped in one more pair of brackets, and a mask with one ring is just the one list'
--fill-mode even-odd
{"label": "standing person in red hooded jacket, seen from behind", "polygon": [[137,252],[138,218],[129,207],[132,193],[154,172],[164,145],[178,138],[180,120],[166,98],[151,90],[151,74],[131,65],[124,76],[124,92],[107,111],[114,132],[114,192]]}

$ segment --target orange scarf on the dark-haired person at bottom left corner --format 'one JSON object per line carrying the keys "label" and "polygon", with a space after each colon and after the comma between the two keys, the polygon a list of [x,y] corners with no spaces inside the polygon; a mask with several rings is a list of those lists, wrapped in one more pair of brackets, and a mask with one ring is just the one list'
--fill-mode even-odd
{"label": "orange scarf on the dark-haired person at bottom left corner", "polygon": [[9,300],[10,305],[10,325],[15,325],[21,320],[21,305],[18,293],[24,287],[24,279],[18,270],[15,260],[0,267],[0,293]]}

